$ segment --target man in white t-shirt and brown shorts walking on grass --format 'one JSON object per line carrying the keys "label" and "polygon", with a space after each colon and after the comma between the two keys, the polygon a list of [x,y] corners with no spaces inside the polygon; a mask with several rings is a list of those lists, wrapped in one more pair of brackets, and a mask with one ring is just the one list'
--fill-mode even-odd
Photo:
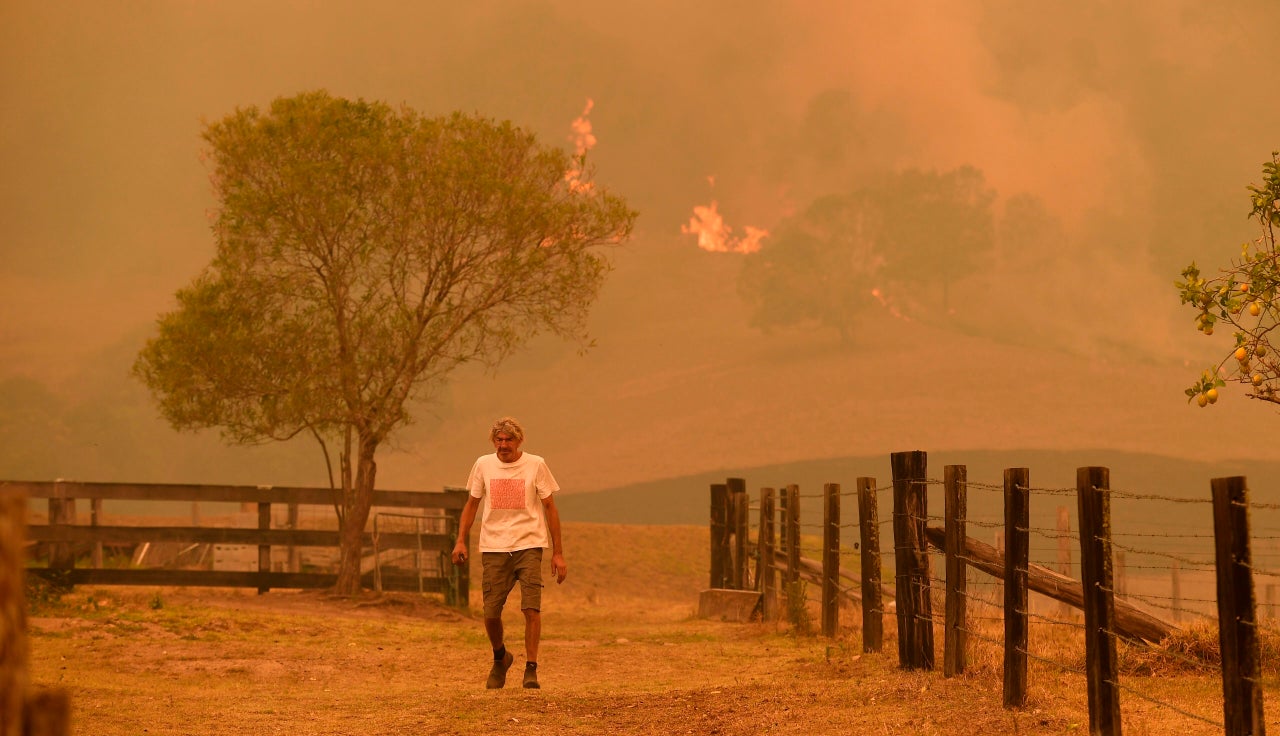
{"label": "man in white t-shirt and brown shorts walking on grass", "polygon": [[547,462],[521,452],[525,430],[507,416],[489,430],[494,453],[476,460],[467,480],[470,498],[458,522],[453,563],[467,559],[467,535],[476,512],[480,517],[481,589],[484,628],[493,645],[493,669],[485,687],[507,684],[515,660],[503,637],[502,609],[511,589],[520,582],[520,609],[525,614],[525,687],[538,687],[538,641],[541,637],[543,549],[552,548],[552,573],[564,582],[564,548],[561,544],[559,512],[553,494],[559,490]]}

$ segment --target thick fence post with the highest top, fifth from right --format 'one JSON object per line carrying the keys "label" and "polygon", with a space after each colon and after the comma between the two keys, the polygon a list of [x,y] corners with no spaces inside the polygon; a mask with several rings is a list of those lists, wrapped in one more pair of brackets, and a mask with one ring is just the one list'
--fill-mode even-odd
{"label": "thick fence post with the highest top, fifth from right", "polygon": [[897,572],[897,654],[906,669],[933,669],[933,604],[929,596],[929,548],[925,453],[895,452],[893,566]]}

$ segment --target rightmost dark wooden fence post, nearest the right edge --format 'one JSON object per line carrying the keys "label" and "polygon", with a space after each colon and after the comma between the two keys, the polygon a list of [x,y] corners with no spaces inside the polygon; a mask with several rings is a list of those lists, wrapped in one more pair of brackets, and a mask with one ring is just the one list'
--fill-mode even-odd
{"label": "rightmost dark wooden fence post, nearest the right edge", "polygon": [[1215,477],[1213,549],[1217,561],[1217,630],[1222,650],[1222,714],[1226,736],[1261,735],[1262,671],[1258,657],[1253,558],[1249,553],[1249,490],[1244,477]]}

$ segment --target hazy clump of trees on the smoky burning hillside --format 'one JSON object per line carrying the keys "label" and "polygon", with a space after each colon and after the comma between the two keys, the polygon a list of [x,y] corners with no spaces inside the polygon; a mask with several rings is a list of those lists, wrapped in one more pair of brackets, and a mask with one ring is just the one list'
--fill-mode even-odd
{"label": "hazy clump of trees on the smoky burning hillside", "polygon": [[814,201],[746,256],[740,292],[760,329],[818,324],[850,339],[873,291],[950,285],[995,247],[995,192],[980,172],[906,170]]}

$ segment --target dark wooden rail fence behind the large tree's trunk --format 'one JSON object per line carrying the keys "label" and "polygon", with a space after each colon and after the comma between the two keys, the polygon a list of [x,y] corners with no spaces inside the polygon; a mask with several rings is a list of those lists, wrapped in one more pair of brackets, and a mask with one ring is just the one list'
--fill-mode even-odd
{"label": "dark wooden rail fence behind the large tree's trunk", "polygon": [[[333,529],[301,529],[297,524],[300,507],[333,509],[340,499],[340,490],[326,488],[273,488],[241,485],[160,485],[127,483],[0,483],[0,495],[22,495],[47,499],[46,524],[27,526],[27,539],[47,549],[47,566],[28,568],[28,575],[55,580],[67,585],[182,585],[256,588],[265,593],[273,588],[324,589],[337,582],[337,571],[301,571],[297,564],[289,570],[274,570],[271,550],[289,550],[296,559],[298,548],[339,547],[339,532]],[[257,511],[256,527],[230,526],[114,526],[104,524],[102,502],[134,500],[165,503],[238,503]],[[77,502],[90,509],[88,524],[78,522]],[[374,530],[365,532],[365,549],[374,552],[369,559],[388,550],[412,550],[419,561],[424,554],[439,554],[444,559],[453,549],[457,524],[466,503],[466,492],[374,492]],[[273,526],[273,507],[285,511],[284,527]],[[413,531],[384,531],[378,529],[378,511],[396,509],[388,517],[413,517],[420,521]],[[170,516],[180,516],[179,513]],[[429,524],[428,524],[429,522]],[[388,525],[390,526],[390,525]],[[104,547],[182,543],[191,545],[244,545],[257,548],[256,570],[192,570],[192,568],[137,568],[104,567]],[[42,556],[44,557],[44,556]],[[88,566],[78,566],[87,557]],[[366,566],[362,566],[362,570]],[[466,607],[470,575],[467,566],[453,567],[442,563],[428,571],[419,567],[413,572],[403,568],[384,570],[372,564],[364,573],[364,584],[379,590],[419,590],[444,594],[445,600]]]}

